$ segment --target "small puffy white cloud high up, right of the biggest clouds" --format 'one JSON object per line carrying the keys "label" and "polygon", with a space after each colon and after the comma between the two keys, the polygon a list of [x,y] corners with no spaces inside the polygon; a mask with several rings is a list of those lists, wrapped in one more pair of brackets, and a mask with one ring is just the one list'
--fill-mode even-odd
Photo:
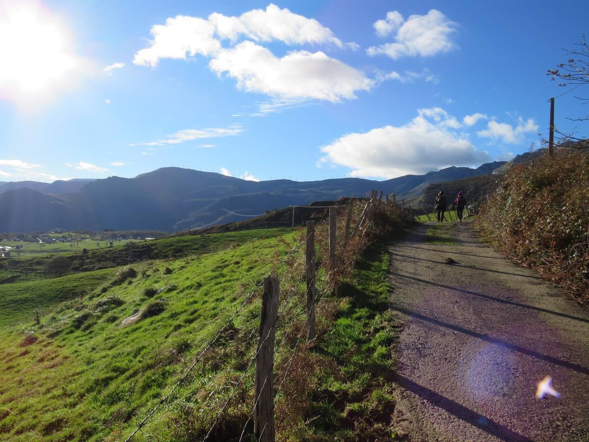
{"label": "small puffy white cloud high up, right of the biggest clouds", "polygon": [[430,9],[426,15],[411,15],[406,21],[399,12],[392,11],[386,15],[386,20],[377,21],[374,27],[380,36],[395,32],[395,41],[369,47],[366,52],[371,57],[379,54],[393,60],[404,55],[429,57],[456,48],[451,39],[456,24],[436,9]]}

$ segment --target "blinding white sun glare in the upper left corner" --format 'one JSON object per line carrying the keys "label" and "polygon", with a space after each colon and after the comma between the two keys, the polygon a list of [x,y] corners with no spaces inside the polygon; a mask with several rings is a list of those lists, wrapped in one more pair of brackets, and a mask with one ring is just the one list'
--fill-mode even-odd
{"label": "blinding white sun glare in the upper left corner", "polygon": [[8,97],[39,95],[75,67],[67,34],[39,4],[0,6],[0,91]]}

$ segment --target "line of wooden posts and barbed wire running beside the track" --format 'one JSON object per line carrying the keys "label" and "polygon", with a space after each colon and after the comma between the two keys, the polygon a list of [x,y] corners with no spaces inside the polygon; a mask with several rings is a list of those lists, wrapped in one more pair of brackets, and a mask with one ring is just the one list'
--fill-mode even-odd
{"label": "line of wooden posts and barbed wire running beside the track", "polygon": [[[234,318],[243,311],[244,307],[252,301],[256,292],[259,290],[260,286],[264,286],[263,297],[262,297],[262,312],[260,313],[260,329],[259,334],[260,338],[257,344],[256,352],[247,359],[246,367],[242,374],[240,375],[239,379],[233,383],[222,383],[220,385],[216,385],[210,391],[209,395],[206,397],[204,401],[201,401],[201,405],[206,404],[209,402],[210,398],[213,397],[214,392],[216,392],[220,387],[223,385],[227,385],[231,388],[229,393],[229,397],[226,401],[224,401],[223,406],[220,408],[219,412],[216,413],[216,416],[211,424],[209,430],[204,436],[203,440],[207,440],[211,433],[213,432],[216,425],[219,423],[221,417],[223,417],[227,407],[235,397],[237,391],[240,389],[241,385],[243,384],[245,378],[249,375],[250,368],[254,361],[256,361],[256,370],[254,371],[254,401],[253,401],[253,408],[251,413],[249,413],[246,423],[241,431],[241,436],[239,440],[242,440],[244,434],[247,430],[247,425],[249,424],[252,417],[254,418],[254,436],[258,440],[264,441],[273,441],[274,440],[274,400],[276,399],[277,395],[281,391],[281,388],[286,381],[290,369],[292,368],[292,364],[294,361],[294,357],[299,351],[301,340],[303,335],[307,334],[307,341],[313,341],[316,338],[316,331],[315,331],[315,314],[316,314],[316,305],[320,302],[320,299],[323,296],[317,296],[315,283],[317,278],[317,271],[323,267],[324,271],[326,272],[327,280],[329,281],[332,278],[332,272],[335,271],[339,266],[343,263],[343,256],[348,250],[348,246],[352,238],[355,238],[357,235],[360,242],[362,242],[363,238],[366,235],[366,231],[368,230],[368,226],[371,223],[371,213],[372,210],[377,205],[386,204],[387,207],[394,208],[395,210],[399,210],[396,206],[396,196],[392,194],[392,197],[389,199],[389,195],[385,194],[385,200],[383,201],[383,192],[380,192],[380,195],[376,190],[373,190],[370,194],[369,199],[366,199],[366,204],[363,209],[360,210],[362,207],[357,206],[356,213],[354,213],[354,202],[355,200],[350,200],[349,204],[340,204],[337,206],[315,206],[315,207],[308,207],[305,206],[307,209],[319,209],[319,208],[327,208],[329,207],[329,219],[327,221],[328,225],[328,242],[327,244],[323,244],[327,246],[327,256],[323,256],[323,259],[317,263],[317,250],[315,250],[315,222],[310,220],[307,222],[307,230],[305,235],[303,235],[302,239],[299,242],[296,242],[292,249],[286,252],[286,255],[283,256],[274,267],[272,271],[270,271],[269,276],[263,279],[263,281],[258,282],[249,295],[246,296],[246,299],[241,303],[238,309],[230,316],[229,320],[223,327],[217,332],[211,341],[208,342],[206,347],[197,355],[196,359],[194,359],[193,363],[190,365],[188,370],[184,373],[184,375],[174,384],[171,390],[168,392],[166,396],[160,399],[158,404],[153,408],[153,410],[148,413],[143,420],[138,424],[137,428],[130,434],[130,436],[125,440],[125,442],[130,441],[138,431],[145,425],[147,420],[151,418],[155,412],[166,403],[166,401],[171,397],[174,393],[178,385],[181,384],[190,372],[196,367],[198,362],[201,361],[203,355],[214,345],[215,342],[219,339],[219,337],[223,334],[223,332],[227,329],[227,327],[231,324]],[[293,206],[293,211],[294,211]],[[345,207],[347,209],[345,214],[345,222],[343,218],[341,219],[342,225],[337,227],[337,220],[336,220],[336,210],[340,207]],[[399,214],[405,215],[405,212],[401,209]],[[293,212],[294,213],[294,212]],[[359,213],[359,215],[358,215]],[[357,220],[353,223],[355,226],[351,229],[352,226],[352,217],[354,215],[358,215]],[[350,229],[352,230],[350,232]],[[279,302],[279,279],[277,276],[279,269],[282,269],[283,266],[289,265],[290,268],[293,268],[292,258],[296,256],[296,253],[299,251],[302,246],[306,246],[305,250],[305,268],[302,269],[303,273],[306,275],[306,321],[305,325],[301,327],[300,331],[297,332],[296,342],[292,347],[292,352],[290,352],[290,357],[287,359],[287,362],[283,365],[283,372],[281,373],[280,377],[281,380],[279,384],[277,384],[276,388],[274,388],[273,383],[273,370],[274,370],[274,348],[275,348],[275,337],[276,331],[280,328],[283,331],[283,336],[281,335],[279,348],[284,346],[284,343],[289,339],[289,332],[293,330],[293,326],[297,321],[297,318],[300,318],[300,314],[297,314],[296,310],[292,312],[292,309],[289,309],[289,305],[291,305],[291,301],[293,298],[296,297],[299,293],[299,288],[297,287],[296,277],[294,278],[294,282],[292,288],[287,290],[287,296],[284,296],[282,303]],[[338,254],[339,251],[339,254]],[[325,268],[322,264],[327,259],[329,266]],[[346,261],[349,262],[349,261]],[[353,262],[353,259],[352,259]],[[296,268],[296,267],[295,267]],[[299,268],[296,268],[296,271],[299,272]],[[287,273],[288,275],[289,273]],[[292,273],[291,273],[292,274]],[[335,278],[335,276],[333,276]],[[330,282],[332,283],[332,282]],[[335,282],[334,282],[335,283]],[[275,293],[275,298],[273,298]],[[324,295],[325,293],[321,293]],[[272,301],[274,299],[274,301]],[[299,307],[300,308],[300,307]],[[287,313],[292,312],[290,317],[287,318]],[[302,319],[302,318],[301,318]],[[284,325],[283,325],[284,324]],[[249,337],[247,338],[246,342],[249,342],[249,339],[255,332],[255,328],[252,329],[249,333]],[[269,341],[269,342],[267,342]],[[288,353],[287,353],[288,354]],[[213,382],[214,378],[211,378],[211,381],[207,384],[210,385]],[[260,386],[261,385],[261,386]],[[262,399],[261,399],[262,398]]]}

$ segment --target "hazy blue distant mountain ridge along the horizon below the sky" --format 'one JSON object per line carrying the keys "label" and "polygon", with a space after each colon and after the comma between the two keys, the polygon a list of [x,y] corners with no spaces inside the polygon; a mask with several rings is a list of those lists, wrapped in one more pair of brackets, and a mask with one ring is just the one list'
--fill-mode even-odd
{"label": "hazy blue distant mountain ridge along the horizon below the sky", "polygon": [[[163,167],[134,178],[54,183],[0,183],[0,231],[64,229],[183,230],[243,219],[266,210],[342,196],[365,196],[372,189],[408,198],[430,183],[487,174],[503,161],[477,169],[446,167],[424,175],[385,181],[360,178],[313,182],[252,182],[214,172]],[[8,214],[8,216],[6,216]]]}

